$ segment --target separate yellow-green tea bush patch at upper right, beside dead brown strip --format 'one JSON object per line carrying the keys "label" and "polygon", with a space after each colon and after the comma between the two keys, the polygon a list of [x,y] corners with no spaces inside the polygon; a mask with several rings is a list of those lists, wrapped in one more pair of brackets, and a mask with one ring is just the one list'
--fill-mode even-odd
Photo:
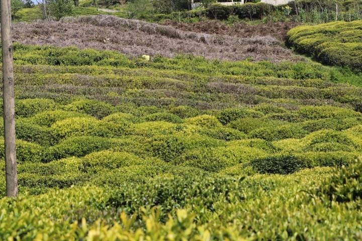
{"label": "separate yellow-green tea bush patch at upper right, beside dead brown strip", "polygon": [[362,21],[353,21],[300,26],[288,32],[287,42],[323,63],[361,71],[361,24]]}

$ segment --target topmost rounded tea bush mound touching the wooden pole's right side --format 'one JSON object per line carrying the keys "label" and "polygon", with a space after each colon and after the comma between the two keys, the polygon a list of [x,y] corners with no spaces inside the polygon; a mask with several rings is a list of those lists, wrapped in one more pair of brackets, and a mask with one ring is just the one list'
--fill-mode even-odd
{"label": "topmost rounded tea bush mound touching the wooden pole's right side", "polygon": [[21,99],[16,101],[15,114],[21,117],[31,117],[44,110],[54,110],[56,103],[51,99]]}

